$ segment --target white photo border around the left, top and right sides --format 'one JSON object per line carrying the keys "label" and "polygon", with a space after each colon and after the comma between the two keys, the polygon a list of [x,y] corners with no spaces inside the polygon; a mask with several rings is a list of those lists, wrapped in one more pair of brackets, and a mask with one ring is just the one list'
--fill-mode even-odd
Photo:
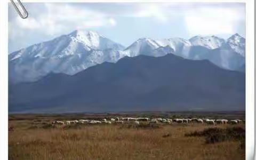
{"label": "white photo border around the left, top and right sides", "polygon": [[[221,2],[235,2],[235,3],[245,3],[246,4],[246,159],[254,159],[254,1],[253,0],[197,0],[197,1],[183,1],[183,0],[145,0],[145,1],[86,1],[86,0],[21,0],[21,2],[28,3],[38,3],[38,2],[87,2],[87,3],[97,3],[97,2],[129,2],[129,3],[139,3],[139,2],[211,2],[211,3],[221,3]],[[1,90],[0,90],[0,154],[1,159],[8,159],[8,3],[9,0],[0,1],[0,75],[1,75]],[[42,13],[43,14],[43,13]]]}

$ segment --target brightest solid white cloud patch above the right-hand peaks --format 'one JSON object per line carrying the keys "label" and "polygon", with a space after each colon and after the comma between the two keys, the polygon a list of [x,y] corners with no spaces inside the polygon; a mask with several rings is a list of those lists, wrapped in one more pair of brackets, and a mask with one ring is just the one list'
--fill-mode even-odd
{"label": "brightest solid white cloud patch above the right-hand peaks", "polygon": [[203,7],[190,10],[185,20],[190,35],[234,34],[237,21],[244,15],[227,8]]}

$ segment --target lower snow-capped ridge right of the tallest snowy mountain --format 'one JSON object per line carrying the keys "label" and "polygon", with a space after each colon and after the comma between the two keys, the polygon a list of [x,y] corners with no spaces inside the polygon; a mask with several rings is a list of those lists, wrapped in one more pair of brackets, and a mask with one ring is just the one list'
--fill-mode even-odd
{"label": "lower snow-capped ridge right of the tallest snowy mountain", "polygon": [[124,51],[131,57],[137,55],[159,57],[173,53],[182,58],[209,60],[221,68],[242,71],[245,66],[245,58],[241,53],[245,51],[239,42],[244,42],[243,39],[239,38],[239,41],[235,41],[236,43],[231,44],[232,47],[229,47],[230,39],[238,39],[238,37],[241,36],[231,36],[228,38],[227,43],[225,39],[217,36],[194,36],[189,40],[168,38],[156,41],[150,38],[140,38]]}

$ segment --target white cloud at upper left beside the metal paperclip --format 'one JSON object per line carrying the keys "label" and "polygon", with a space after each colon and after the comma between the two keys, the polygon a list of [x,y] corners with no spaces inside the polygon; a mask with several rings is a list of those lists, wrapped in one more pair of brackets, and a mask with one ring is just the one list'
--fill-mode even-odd
{"label": "white cloud at upper left beside the metal paperclip", "polygon": [[11,29],[37,30],[49,35],[74,29],[116,25],[115,19],[105,13],[60,3],[46,3],[44,9],[35,13],[32,12],[27,19],[21,19],[17,15],[10,23],[12,23],[12,26],[17,26]]}

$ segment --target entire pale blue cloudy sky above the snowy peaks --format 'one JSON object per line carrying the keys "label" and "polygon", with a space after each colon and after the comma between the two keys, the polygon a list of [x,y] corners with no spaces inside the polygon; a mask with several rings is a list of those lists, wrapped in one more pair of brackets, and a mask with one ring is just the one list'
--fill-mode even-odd
{"label": "entire pale blue cloudy sky above the snowy peaks", "polygon": [[131,45],[139,38],[196,35],[245,37],[245,3],[23,3],[22,19],[9,3],[9,53],[76,29],[94,30]]}

